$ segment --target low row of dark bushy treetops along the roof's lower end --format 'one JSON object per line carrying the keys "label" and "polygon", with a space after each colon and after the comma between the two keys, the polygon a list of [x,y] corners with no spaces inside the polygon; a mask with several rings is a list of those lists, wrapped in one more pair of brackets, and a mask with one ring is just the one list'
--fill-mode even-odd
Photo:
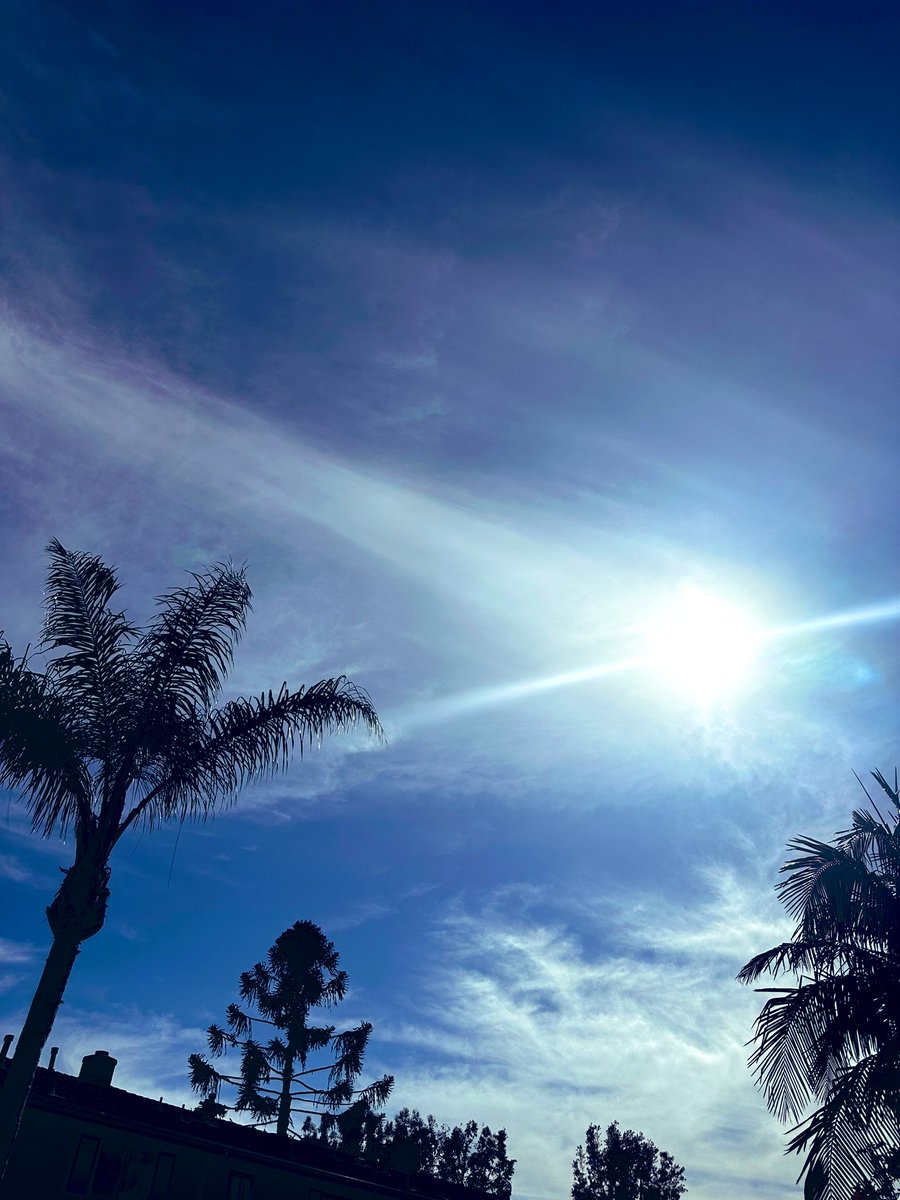
{"label": "low row of dark bushy treetops along the roof's lower end", "polygon": [[361,1102],[337,1117],[325,1115],[318,1130],[306,1123],[304,1135],[404,1174],[421,1172],[498,1196],[512,1190],[516,1160],[506,1153],[506,1130],[479,1129],[476,1121],[449,1128],[416,1109],[401,1109],[386,1121]]}

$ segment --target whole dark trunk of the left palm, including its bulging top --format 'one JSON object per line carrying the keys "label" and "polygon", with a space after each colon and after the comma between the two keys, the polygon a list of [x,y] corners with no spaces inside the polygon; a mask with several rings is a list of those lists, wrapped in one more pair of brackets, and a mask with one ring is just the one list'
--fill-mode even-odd
{"label": "whole dark trunk of the left palm, including its bulging top", "polygon": [[102,848],[95,850],[92,854],[77,856],[47,910],[47,920],[53,932],[50,952],[0,1088],[0,1194],[6,1192],[2,1180],[28,1093],[31,1091],[31,1080],[56,1020],[72,966],[82,943],[100,932],[106,920],[109,899],[108,857],[108,851],[104,853]]}

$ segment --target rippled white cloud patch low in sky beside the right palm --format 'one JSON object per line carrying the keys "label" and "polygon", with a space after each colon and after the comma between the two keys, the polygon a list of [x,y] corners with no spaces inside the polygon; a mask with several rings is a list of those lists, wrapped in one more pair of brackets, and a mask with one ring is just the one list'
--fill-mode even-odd
{"label": "rippled white cloud patch low in sky beside the right palm", "polygon": [[[588,1123],[612,1120],[671,1151],[698,1200],[792,1194],[794,1164],[746,1069],[757,1000],[734,983],[782,923],[732,872],[706,881],[700,904],[608,896],[593,928],[581,906],[581,935],[540,889],[457,910],[432,1002],[406,1025],[378,1025],[401,1061],[413,1055],[397,1068],[397,1103],[505,1126],[523,1195],[565,1194]],[[538,905],[557,918],[536,923]],[[605,948],[590,952],[598,937]],[[434,1066],[416,1066],[422,1052]]]}

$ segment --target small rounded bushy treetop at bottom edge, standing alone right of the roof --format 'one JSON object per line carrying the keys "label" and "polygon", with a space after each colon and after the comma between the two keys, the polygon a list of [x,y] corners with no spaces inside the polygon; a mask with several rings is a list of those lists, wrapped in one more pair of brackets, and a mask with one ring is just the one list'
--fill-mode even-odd
{"label": "small rounded bushy treetop at bottom edge, standing alone right of the roof", "polygon": [[592,1124],[572,1162],[572,1200],[678,1200],[688,1188],[684,1169],[642,1133]]}

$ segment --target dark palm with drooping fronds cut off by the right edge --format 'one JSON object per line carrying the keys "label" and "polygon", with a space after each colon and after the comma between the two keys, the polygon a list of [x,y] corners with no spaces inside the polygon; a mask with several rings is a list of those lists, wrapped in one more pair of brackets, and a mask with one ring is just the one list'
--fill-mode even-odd
{"label": "dark palm with drooping fronds cut off by the right edge", "polygon": [[[769,1108],[799,1121],[806,1200],[894,1196],[900,1151],[900,792],[872,773],[892,809],[857,810],[832,844],[797,838],[778,884],[793,940],[738,978],[792,973],[757,1018],[750,1063]],[[866,792],[866,796],[869,793]],[[798,1181],[799,1182],[799,1181]]]}

